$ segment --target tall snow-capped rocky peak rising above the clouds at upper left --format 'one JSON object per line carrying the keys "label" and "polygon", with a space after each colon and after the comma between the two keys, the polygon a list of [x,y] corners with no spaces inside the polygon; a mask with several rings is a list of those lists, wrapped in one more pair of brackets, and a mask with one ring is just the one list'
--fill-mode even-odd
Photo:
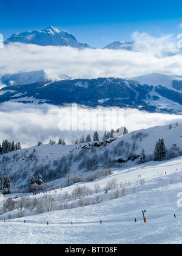
{"label": "tall snow-capped rocky peak rising above the clouds at upper left", "polygon": [[26,31],[21,34],[13,34],[4,41],[7,43],[30,43],[41,46],[70,46],[78,49],[91,48],[88,44],[79,43],[73,35],[50,26],[44,30]]}

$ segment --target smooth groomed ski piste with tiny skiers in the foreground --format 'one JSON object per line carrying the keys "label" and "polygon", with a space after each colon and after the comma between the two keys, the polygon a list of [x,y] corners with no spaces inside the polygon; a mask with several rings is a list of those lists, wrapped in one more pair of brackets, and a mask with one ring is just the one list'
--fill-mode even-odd
{"label": "smooth groomed ski piste with tiny skiers in the foreground", "polygon": [[[138,182],[138,176],[144,179],[143,185]],[[87,185],[92,188],[99,183],[102,189],[113,178],[117,182],[130,182],[126,196],[106,198],[106,201],[85,207],[0,221],[0,243],[182,243],[182,200],[177,197],[182,192],[182,157],[118,169],[111,176]],[[62,190],[69,191],[75,186]],[[105,195],[108,197],[110,193]],[[54,196],[55,191],[50,194]],[[147,210],[146,223],[142,215],[144,209]]]}

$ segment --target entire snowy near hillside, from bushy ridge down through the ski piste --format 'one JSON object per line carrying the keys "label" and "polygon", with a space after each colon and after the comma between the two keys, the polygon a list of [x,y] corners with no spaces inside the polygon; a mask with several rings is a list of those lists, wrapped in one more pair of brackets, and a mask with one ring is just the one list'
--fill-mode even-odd
{"label": "entire snowy near hillside, from bushy ridge down through the ski piste", "polygon": [[[170,128],[158,126],[127,133],[108,140],[107,146],[102,141],[95,146],[49,144],[11,152],[0,157],[0,176],[5,171],[12,175],[12,187],[26,187],[30,176],[37,172],[44,179],[49,170],[49,175],[54,177],[54,168],[59,166],[61,174],[59,158],[64,157],[71,175],[82,171],[86,177],[106,167],[106,159],[126,159],[131,152],[140,153],[142,148],[146,155],[153,152],[161,137],[167,149],[174,145],[176,149],[182,148],[182,124]],[[82,160],[96,160],[95,155],[101,158],[97,168],[89,172],[78,168]],[[182,157],[142,164],[137,161],[113,166],[113,173],[107,177],[98,176],[93,181],[84,180],[69,187],[64,187],[64,177],[52,179],[50,185],[55,190],[47,193],[22,194],[16,190],[13,194],[0,195],[0,210],[6,203],[11,208],[5,211],[4,207],[5,213],[0,216],[0,243],[182,243]],[[44,166],[42,171],[38,169],[40,166]],[[82,189],[88,193],[79,194]],[[8,198],[14,204],[8,205]]]}

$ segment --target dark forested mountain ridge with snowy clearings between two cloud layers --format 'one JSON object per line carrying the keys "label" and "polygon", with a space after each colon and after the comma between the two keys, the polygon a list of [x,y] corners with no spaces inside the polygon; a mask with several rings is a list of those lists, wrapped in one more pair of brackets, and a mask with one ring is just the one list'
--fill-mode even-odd
{"label": "dark forested mountain ridge with snowy clearings between two cloud layers", "polygon": [[44,80],[18,86],[16,84],[17,82],[12,83],[0,90],[0,103],[5,101],[33,104],[46,102],[53,105],[76,103],[88,107],[129,107],[147,112],[176,114],[182,112],[180,77],[151,74],[132,79],[103,77],[56,82]]}

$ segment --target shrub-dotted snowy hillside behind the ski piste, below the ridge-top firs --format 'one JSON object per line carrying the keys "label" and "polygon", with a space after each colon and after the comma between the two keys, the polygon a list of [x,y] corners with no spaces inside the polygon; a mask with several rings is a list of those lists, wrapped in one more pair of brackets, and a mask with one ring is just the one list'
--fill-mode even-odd
{"label": "shrub-dotted snowy hillside behind the ski piste, below the ridge-top firs", "polygon": [[159,138],[164,138],[166,158],[182,154],[182,124],[157,126],[146,130],[127,133],[118,138],[95,143],[81,143],[62,146],[45,144],[21,151],[0,155],[0,176],[9,174],[12,189],[27,189],[30,177],[41,173],[44,182],[59,180],[64,186],[67,172],[72,176],[83,174],[86,177],[90,171],[101,168],[124,168],[135,165],[144,148],[146,159],[151,160],[155,144]]}

